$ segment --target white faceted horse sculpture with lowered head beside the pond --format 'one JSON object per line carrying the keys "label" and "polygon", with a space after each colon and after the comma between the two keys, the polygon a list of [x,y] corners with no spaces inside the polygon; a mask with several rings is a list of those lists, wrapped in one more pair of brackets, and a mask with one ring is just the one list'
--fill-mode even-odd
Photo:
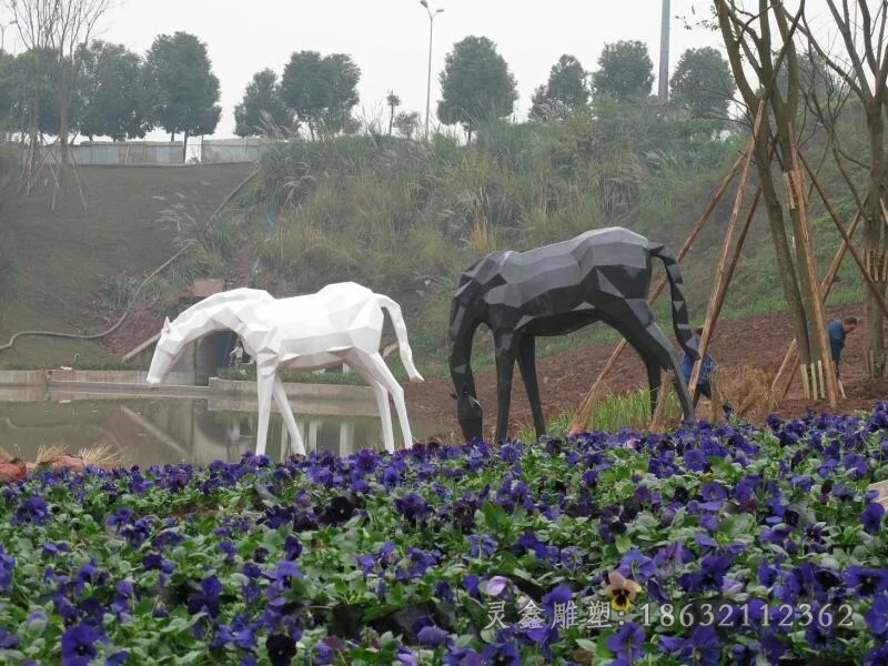
{"label": "white faceted horse sculpture with lowered head beside the pond", "polygon": [[272,396],[295,443],[296,453],[305,453],[278,370],[320,370],[343,362],[373,389],[385,448],[391,452],[395,447],[389,395],[395,402],[404,445],[411,447],[413,436],[404,390],[380,355],[383,307],[394,324],[401,360],[410,380],[422,382],[423,377],[413,365],[401,306],[389,296],[373,293],[354,282],[330,284],[316,294],[291,299],[274,299],[255,289],[235,289],[209,296],[185,310],[174,322],[170,323],[169,319],[164,322],[147,381],[159,384],[190,342],[212,331],[229,329],[241,336],[244,350],[256,364],[256,454],[265,453]]}

